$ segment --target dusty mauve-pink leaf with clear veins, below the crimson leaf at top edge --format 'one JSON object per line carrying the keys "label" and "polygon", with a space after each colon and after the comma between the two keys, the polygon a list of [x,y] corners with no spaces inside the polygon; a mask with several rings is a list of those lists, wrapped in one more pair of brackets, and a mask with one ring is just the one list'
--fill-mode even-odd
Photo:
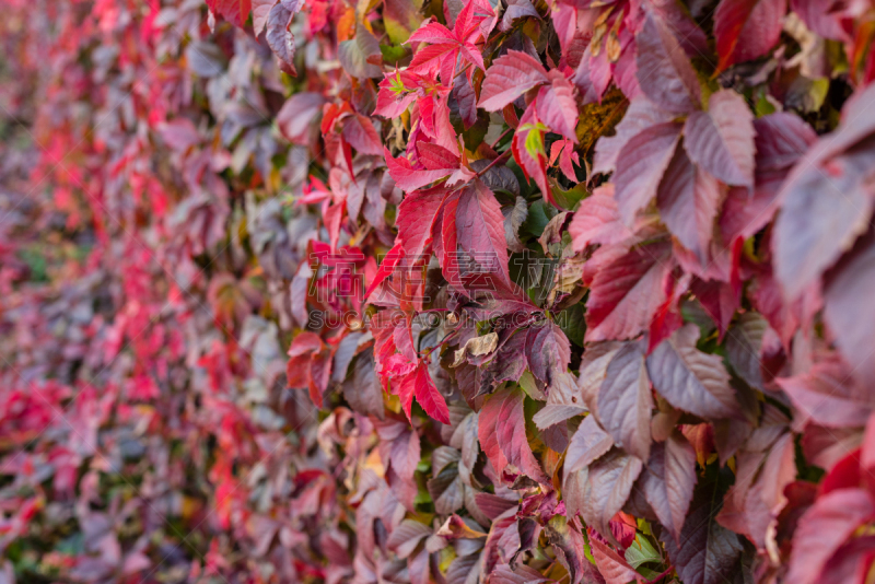
{"label": "dusty mauve-pink leaf with clear veins, below the crimson leaf at top edge", "polygon": [[711,95],[708,113],[693,112],[684,125],[690,160],[727,185],[754,186],[754,114],[734,91]]}

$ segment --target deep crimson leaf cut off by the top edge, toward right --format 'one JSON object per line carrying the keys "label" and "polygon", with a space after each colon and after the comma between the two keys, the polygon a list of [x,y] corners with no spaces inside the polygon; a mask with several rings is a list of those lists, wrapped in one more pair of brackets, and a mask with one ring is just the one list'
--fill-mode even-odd
{"label": "deep crimson leaf cut off by the top edge, toward right", "polygon": [[721,0],[714,12],[718,72],[762,57],[784,27],[786,0]]}

